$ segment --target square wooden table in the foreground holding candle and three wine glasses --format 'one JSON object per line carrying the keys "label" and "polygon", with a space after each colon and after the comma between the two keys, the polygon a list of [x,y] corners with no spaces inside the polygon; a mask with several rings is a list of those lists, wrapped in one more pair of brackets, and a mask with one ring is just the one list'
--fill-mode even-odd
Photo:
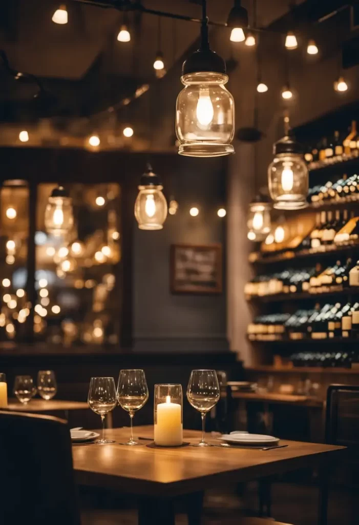
{"label": "square wooden table in the foreground holding candle and three wine glasses", "polygon": [[[172,500],[185,494],[192,495],[189,524],[198,525],[204,490],[305,467],[319,467],[324,472],[319,523],[326,523],[328,460],[344,447],[294,441],[282,441],[281,444],[288,444],[288,447],[267,451],[219,447],[149,448],[146,441],[143,447],[118,445],[128,439],[128,432],[128,428],[108,429],[106,436],[116,440],[113,445],[73,445],[73,466],[81,485],[138,495],[140,525],[174,525]],[[152,437],[153,426],[135,427],[134,434]],[[200,440],[200,432],[184,430],[183,437],[196,442]],[[212,440],[212,443],[218,442]]]}

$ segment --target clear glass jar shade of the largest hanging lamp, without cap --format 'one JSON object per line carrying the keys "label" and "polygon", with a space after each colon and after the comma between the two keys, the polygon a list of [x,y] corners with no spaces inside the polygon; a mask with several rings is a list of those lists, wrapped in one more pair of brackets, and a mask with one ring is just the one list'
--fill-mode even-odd
{"label": "clear glass jar shade of the largest hanging lamp, without cap", "polygon": [[191,72],[181,81],[185,87],[176,105],[179,154],[214,157],[234,153],[234,100],[224,86],[227,75]]}

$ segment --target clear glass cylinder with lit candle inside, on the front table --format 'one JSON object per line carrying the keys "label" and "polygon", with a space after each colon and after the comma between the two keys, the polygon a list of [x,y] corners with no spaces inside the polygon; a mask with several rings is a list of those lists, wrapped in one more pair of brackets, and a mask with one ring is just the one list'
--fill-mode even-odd
{"label": "clear glass cylinder with lit candle inside, on the front table", "polygon": [[155,385],[155,445],[178,447],[183,442],[182,386]]}

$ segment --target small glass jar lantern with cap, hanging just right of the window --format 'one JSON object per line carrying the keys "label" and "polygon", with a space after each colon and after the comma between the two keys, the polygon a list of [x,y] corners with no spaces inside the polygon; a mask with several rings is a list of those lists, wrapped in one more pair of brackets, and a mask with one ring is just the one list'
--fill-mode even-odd
{"label": "small glass jar lantern with cap, hanging just right of the window", "polygon": [[138,186],[139,192],[135,202],[135,217],[139,229],[162,229],[167,217],[167,201],[162,193],[160,178],[148,164]]}

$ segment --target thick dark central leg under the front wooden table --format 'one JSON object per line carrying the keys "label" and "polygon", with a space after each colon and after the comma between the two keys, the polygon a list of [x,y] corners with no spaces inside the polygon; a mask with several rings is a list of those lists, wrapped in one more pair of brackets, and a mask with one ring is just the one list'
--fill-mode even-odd
{"label": "thick dark central leg under the front wooden table", "polygon": [[175,525],[171,498],[142,498],[138,505],[138,525]]}

